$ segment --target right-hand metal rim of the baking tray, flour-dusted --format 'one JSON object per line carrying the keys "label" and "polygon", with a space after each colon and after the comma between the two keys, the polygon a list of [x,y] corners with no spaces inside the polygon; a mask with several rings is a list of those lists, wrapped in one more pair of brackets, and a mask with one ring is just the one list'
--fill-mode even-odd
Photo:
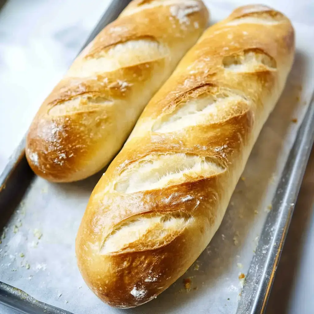
{"label": "right-hand metal rim of the baking tray, flour-dusted", "polygon": [[[276,188],[272,210],[263,225],[236,314],[264,313],[266,309],[313,143],[314,92]],[[272,221],[277,225],[273,231],[269,229]],[[265,246],[268,246],[266,253]],[[263,272],[258,271],[260,268]]]}

